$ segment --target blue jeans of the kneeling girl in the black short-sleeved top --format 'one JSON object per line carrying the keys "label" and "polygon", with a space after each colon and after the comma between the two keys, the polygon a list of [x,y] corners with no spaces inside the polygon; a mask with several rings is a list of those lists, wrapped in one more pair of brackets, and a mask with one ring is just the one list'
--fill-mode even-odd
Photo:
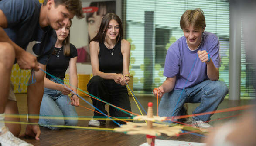
{"label": "blue jeans of the kneeling girl in the black short-sleeved top", "polygon": [[[51,81],[60,84],[60,81],[54,79],[51,79]],[[68,105],[69,101],[70,98],[67,99],[67,95],[63,95],[61,91],[44,88],[39,124],[52,130],[59,130],[62,127],[51,125],[76,126],[78,120],[64,120],[64,117],[78,117],[75,107],[71,104]],[[51,117],[58,117],[58,119],[52,119]]]}

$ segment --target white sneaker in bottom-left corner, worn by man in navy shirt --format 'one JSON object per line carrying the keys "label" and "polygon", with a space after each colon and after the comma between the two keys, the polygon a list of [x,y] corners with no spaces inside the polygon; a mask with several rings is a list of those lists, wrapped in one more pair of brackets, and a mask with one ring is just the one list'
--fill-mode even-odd
{"label": "white sneaker in bottom-left corner, worn by man in navy shirt", "polygon": [[34,146],[15,137],[7,127],[0,130],[0,146]]}

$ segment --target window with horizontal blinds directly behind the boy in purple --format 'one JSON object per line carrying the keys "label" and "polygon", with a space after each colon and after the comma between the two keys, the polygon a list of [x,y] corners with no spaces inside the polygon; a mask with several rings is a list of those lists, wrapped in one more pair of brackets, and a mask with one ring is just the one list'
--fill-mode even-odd
{"label": "window with horizontal blinds directly behind the boy in purple", "polygon": [[180,28],[181,15],[197,7],[205,13],[205,31],[215,33],[220,40],[220,80],[229,85],[228,0],[126,0],[123,6],[125,38],[131,43],[130,73],[135,92],[151,93],[165,81],[167,49],[184,36]]}

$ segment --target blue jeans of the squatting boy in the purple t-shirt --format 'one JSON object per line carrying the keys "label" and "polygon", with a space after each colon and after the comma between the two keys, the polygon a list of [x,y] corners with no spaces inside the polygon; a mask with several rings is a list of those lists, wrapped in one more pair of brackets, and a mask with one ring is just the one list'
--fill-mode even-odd
{"label": "blue jeans of the squatting boy in the purple t-shirt", "polygon": [[[193,114],[217,110],[218,105],[223,101],[229,90],[223,81],[205,80],[195,86],[185,88],[182,94],[181,92],[182,89],[172,90],[164,94],[159,104],[159,116],[180,116],[185,103],[201,103],[193,111]],[[181,98],[179,100],[180,96]],[[212,115],[193,116],[193,119],[208,121]],[[178,119],[178,121],[181,120]]]}

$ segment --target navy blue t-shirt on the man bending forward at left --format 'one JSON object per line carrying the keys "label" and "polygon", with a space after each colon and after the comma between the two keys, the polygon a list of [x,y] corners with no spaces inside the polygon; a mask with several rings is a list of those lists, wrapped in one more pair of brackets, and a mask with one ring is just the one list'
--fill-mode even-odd
{"label": "navy blue t-shirt on the man bending forward at left", "polygon": [[2,0],[0,9],[7,18],[5,32],[21,48],[38,58],[46,65],[56,42],[51,26],[41,28],[39,14],[41,4],[38,0]]}

